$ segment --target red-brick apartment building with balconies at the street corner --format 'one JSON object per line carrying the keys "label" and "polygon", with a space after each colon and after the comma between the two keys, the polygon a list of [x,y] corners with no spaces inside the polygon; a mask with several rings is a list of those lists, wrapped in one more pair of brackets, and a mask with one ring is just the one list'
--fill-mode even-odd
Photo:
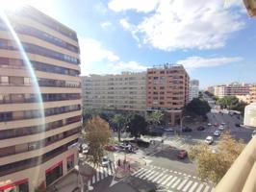
{"label": "red-brick apartment building with balconies at the street corner", "polygon": [[146,107],[160,109],[169,115],[169,125],[181,118],[182,108],[189,102],[190,77],[182,65],[165,64],[147,69]]}

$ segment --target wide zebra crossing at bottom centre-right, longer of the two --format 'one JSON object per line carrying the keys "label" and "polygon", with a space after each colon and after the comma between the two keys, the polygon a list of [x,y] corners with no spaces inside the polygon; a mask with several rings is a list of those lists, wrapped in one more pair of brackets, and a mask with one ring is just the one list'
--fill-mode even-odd
{"label": "wide zebra crossing at bottom centre-right, longer of the two", "polygon": [[164,187],[157,190],[162,192],[211,192],[213,190],[211,184],[202,182],[196,177],[153,165],[142,167],[131,176]]}

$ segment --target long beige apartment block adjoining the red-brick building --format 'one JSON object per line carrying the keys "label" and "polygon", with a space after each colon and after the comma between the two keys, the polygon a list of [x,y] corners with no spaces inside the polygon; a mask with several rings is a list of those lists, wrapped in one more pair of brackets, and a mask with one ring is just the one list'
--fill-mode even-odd
{"label": "long beige apartment block adjoining the red-brick building", "polygon": [[123,72],[82,77],[83,105],[87,108],[145,111],[145,76],[144,72]]}

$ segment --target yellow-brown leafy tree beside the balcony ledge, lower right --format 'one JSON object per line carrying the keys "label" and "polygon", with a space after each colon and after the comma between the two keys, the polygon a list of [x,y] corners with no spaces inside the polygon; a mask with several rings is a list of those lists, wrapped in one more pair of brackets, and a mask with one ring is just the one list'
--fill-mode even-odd
{"label": "yellow-brown leafy tree beside the balcony ledge, lower right", "polygon": [[201,180],[218,183],[242,153],[244,146],[243,141],[237,141],[229,132],[225,132],[220,137],[216,152],[209,145],[200,144],[191,148],[189,156],[197,162],[197,174]]}

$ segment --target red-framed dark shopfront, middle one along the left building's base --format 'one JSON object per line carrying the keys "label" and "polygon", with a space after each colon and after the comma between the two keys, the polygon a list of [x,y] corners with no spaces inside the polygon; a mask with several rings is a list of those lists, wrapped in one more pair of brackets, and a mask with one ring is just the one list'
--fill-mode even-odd
{"label": "red-framed dark shopfront, middle one along the left building's base", "polygon": [[63,176],[63,161],[53,165],[45,171],[46,186]]}

